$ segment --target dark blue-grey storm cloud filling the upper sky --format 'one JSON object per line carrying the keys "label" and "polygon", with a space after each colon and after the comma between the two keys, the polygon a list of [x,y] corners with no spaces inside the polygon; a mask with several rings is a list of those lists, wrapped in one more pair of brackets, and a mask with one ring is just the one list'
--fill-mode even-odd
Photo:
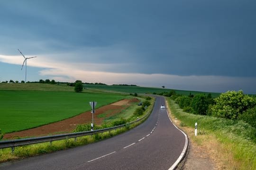
{"label": "dark blue-grey storm cloud filling the upper sky", "polygon": [[256,76],[253,0],[25,0],[0,6],[4,54],[13,54],[15,44],[30,53],[79,51],[72,60],[116,63],[101,68],[108,72]]}

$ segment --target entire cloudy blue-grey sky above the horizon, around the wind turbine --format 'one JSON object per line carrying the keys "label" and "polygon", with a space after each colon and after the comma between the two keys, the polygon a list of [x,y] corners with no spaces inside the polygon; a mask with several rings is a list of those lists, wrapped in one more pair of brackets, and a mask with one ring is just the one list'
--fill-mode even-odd
{"label": "entire cloudy blue-grey sky above the horizon, around the wind turbine", "polygon": [[0,0],[0,81],[256,93],[255,0]]}

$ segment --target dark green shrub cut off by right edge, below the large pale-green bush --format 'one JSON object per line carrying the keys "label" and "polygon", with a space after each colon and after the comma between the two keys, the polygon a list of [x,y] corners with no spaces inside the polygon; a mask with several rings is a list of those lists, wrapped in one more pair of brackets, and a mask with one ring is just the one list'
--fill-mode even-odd
{"label": "dark green shrub cut off by right edge, below the large pale-green bush", "polygon": [[239,119],[249,123],[252,127],[256,127],[256,106],[248,109],[239,116]]}

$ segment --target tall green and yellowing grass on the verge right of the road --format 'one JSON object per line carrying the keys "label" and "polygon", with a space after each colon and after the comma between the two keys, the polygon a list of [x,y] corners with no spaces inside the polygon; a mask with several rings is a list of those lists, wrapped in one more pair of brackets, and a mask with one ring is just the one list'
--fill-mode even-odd
{"label": "tall green and yellowing grass on the verge right of the road", "polygon": [[[242,121],[186,113],[170,99],[168,99],[168,104],[174,117],[179,119],[183,125],[193,129],[195,122],[197,122],[199,132],[204,131],[208,136],[214,136],[213,139],[219,143],[219,148],[215,149],[218,150],[225,168],[233,170],[256,169],[255,128]],[[205,133],[199,133],[199,137],[192,137],[192,139],[201,144]]]}

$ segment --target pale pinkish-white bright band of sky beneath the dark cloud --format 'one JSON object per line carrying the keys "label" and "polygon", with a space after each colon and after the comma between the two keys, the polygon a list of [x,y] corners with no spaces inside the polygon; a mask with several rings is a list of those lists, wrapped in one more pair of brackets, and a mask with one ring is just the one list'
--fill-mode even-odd
{"label": "pale pinkish-white bright band of sky beneath the dark cloud", "polygon": [[[4,56],[0,55],[1,62],[9,64],[22,65],[22,56]],[[21,63],[21,64],[20,64]],[[85,67],[84,67],[85,66]],[[88,67],[87,67],[88,66]],[[90,71],[92,67],[112,67],[111,64],[88,64],[88,63],[65,63],[55,61],[53,59],[43,60],[43,56],[37,57],[33,62],[29,62],[29,67],[39,68],[39,75],[49,77],[48,79],[59,82],[74,82],[82,80],[87,83],[104,83],[107,85],[113,84],[128,84],[139,85],[145,87],[159,87],[165,85],[165,88],[188,90],[188,91],[203,91],[203,92],[225,92],[228,90],[243,90],[240,88],[230,88],[229,84],[246,86],[251,83],[250,77],[228,77],[228,76],[177,76],[165,74],[141,74],[141,73],[111,73],[102,71]],[[72,72],[70,71],[72,70]],[[18,79],[21,81],[23,79]],[[33,79],[33,81],[39,81]],[[152,81],[154,80],[154,81]],[[32,81],[32,80],[30,80]],[[161,82],[161,83],[159,83]],[[205,82],[201,85],[201,82]],[[186,85],[188,84],[189,85]],[[256,84],[256,80],[252,83]],[[211,90],[212,87],[223,86],[220,90]],[[244,91],[245,93],[252,93]]]}

